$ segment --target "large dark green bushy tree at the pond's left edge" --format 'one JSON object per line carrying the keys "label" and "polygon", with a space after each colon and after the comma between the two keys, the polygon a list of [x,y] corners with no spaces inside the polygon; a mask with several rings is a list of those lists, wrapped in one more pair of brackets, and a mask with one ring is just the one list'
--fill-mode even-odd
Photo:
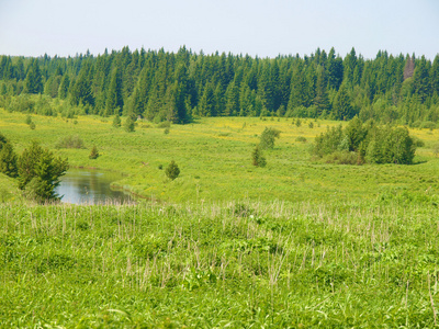
{"label": "large dark green bushy tree at the pond's left edge", "polygon": [[57,198],[55,189],[68,169],[68,162],[34,141],[19,158],[18,169],[19,188],[33,200],[45,202]]}

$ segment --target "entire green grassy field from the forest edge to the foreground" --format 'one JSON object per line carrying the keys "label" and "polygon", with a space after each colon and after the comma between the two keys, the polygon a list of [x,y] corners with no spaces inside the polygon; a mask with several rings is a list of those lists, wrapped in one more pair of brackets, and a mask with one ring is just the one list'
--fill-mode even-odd
{"label": "entire green grassy field from the forest edge to the foreground", "polygon": [[[410,131],[425,141],[414,166],[336,166],[308,152],[336,122],[203,118],[165,134],[32,120],[0,111],[18,152],[37,139],[74,167],[125,173],[115,185],[145,198],[36,205],[1,177],[0,326],[438,326],[438,131]],[[282,133],[256,168],[266,126]],[[86,148],[55,149],[67,135]],[[169,181],[159,166],[172,159]]]}

